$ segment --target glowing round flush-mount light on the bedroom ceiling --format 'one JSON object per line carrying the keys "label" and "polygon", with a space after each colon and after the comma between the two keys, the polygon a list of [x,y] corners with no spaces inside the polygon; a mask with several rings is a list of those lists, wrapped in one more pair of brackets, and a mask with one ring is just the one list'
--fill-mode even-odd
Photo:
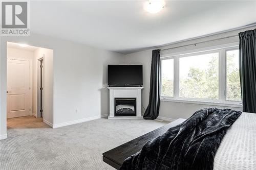
{"label": "glowing round flush-mount light on the bedroom ceiling", "polygon": [[144,3],[144,10],[155,14],[164,8],[165,2],[163,0],[150,0]]}

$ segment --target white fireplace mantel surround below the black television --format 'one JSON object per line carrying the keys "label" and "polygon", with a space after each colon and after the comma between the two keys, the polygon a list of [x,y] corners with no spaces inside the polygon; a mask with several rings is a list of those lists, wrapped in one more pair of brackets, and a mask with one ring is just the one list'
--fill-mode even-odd
{"label": "white fireplace mantel surround below the black television", "polygon": [[[141,119],[141,90],[143,87],[108,87],[110,90],[109,119]],[[136,98],[136,116],[115,116],[115,98]]]}

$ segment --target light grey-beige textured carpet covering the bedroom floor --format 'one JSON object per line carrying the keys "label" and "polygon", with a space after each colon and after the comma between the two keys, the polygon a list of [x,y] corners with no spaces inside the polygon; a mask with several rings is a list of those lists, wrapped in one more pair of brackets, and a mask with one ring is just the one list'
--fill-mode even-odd
{"label": "light grey-beige textured carpet covering the bedroom floor", "polygon": [[103,152],[165,124],[102,118],[56,129],[8,129],[0,140],[0,169],[114,169],[102,161]]}

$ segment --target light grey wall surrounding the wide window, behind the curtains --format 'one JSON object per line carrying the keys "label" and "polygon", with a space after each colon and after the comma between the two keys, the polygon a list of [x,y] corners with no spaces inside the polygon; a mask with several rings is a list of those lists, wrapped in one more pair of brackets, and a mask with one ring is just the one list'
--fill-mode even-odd
{"label": "light grey wall surrounding the wide window, behind the curtains", "polygon": [[[200,41],[207,41],[211,39],[221,38],[221,37],[227,37],[231,35],[237,35],[239,32],[255,29],[255,27],[240,29],[240,30],[234,30],[229,31],[226,33],[220,33],[217,35],[211,35],[208,37],[202,37],[197,39],[191,39],[188,41],[183,41],[180,43],[172,44],[172,45],[166,45],[158,48],[152,48],[150,50],[145,50],[133,54],[127,54],[125,55],[125,64],[143,64],[143,86],[144,89],[142,90],[142,113],[145,112],[145,109],[148,105],[148,96],[149,96],[149,89],[150,89],[150,70],[151,70],[151,57],[152,57],[152,50],[154,49],[164,49],[168,47],[176,47],[181,45],[186,45],[190,43],[197,43]],[[237,43],[239,44],[239,38],[233,37],[218,41],[212,41],[208,43],[198,44],[197,46],[186,46],[181,48],[176,48],[172,51],[164,51],[161,54],[174,54],[178,52],[189,52],[193,50],[199,50],[200,48],[206,48],[209,46],[218,46],[221,44],[228,44],[228,43]],[[165,119],[165,120],[173,120],[177,118],[188,118],[193,114],[195,111],[205,108],[205,107],[219,107],[219,108],[227,108],[227,106],[218,106],[218,105],[205,105],[205,104],[192,104],[192,103],[181,103],[181,102],[170,102],[170,101],[161,101],[160,104],[160,111],[159,111],[159,118]],[[231,109],[236,110],[242,110],[241,107],[228,107]]]}

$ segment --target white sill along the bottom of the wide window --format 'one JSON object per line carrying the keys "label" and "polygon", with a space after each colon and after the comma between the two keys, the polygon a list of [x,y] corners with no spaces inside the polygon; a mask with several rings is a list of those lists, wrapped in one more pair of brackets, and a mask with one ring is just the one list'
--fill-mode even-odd
{"label": "white sill along the bottom of the wide window", "polygon": [[226,107],[236,107],[236,108],[243,107],[243,105],[240,102],[201,101],[201,100],[174,99],[174,98],[163,98],[163,97],[161,97],[160,100],[164,102],[191,103],[191,104],[198,104],[198,105],[226,106]]}

